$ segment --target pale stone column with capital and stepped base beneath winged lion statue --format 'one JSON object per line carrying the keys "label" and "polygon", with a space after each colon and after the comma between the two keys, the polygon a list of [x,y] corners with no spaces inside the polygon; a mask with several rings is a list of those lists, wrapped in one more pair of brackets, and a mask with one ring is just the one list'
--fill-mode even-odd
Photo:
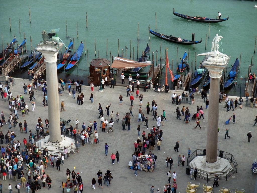
{"label": "pale stone column with capital and stepped base beneath winged lion statue", "polygon": [[[59,47],[63,46],[60,43]],[[74,140],[65,136],[61,136],[60,132],[60,101],[58,95],[58,77],[57,77],[57,54],[59,49],[52,42],[38,45],[36,51],[40,51],[44,56],[46,63],[47,76],[47,96],[48,96],[48,119],[49,119],[49,136],[36,142],[36,146],[47,148],[50,154],[58,149],[69,146]],[[52,150],[52,151],[51,151]],[[54,152],[53,152],[54,151]]]}

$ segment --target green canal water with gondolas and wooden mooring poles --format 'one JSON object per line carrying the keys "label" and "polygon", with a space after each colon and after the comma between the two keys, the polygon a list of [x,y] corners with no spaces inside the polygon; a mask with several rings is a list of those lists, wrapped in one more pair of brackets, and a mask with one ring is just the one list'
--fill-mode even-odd
{"label": "green canal water with gondolas and wooden mooring poles", "polygon": [[[158,50],[157,58],[160,63],[160,54],[163,58],[164,48],[168,48],[168,57],[173,60],[173,71],[177,64],[177,48],[178,60],[182,57],[184,50],[189,51],[189,64],[195,64],[196,54],[210,51],[211,42],[215,34],[221,34],[223,53],[231,56],[228,64],[228,71],[231,64],[234,63],[236,56],[241,57],[241,66],[239,76],[245,77],[248,74],[248,66],[251,63],[256,64],[256,54],[254,54],[257,8],[254,8],[256,2],[253,1],[236,1],[236,0],[190,0],[190,1],[135,1],[135,0],[112,0],[112,1],[2,1],[0,8],[0,32],[3,34],[3,44],[13,39],[15,34],[18,43],[23,40],[23,33],[27,39],[27,50],[30,52],[30,36],[32,39],[32,47],[42,40],[41,31],[49,31],[51,29],[60,28],[58,36],[69,44],[70,38],[73,40],[75,49],[81,41],[86,40],[86,50],[88,54],[83,53],[77,67],[70,71],[58,71],[58,78],[82,79],[87,82],[89,75],[88,61],[91,59],[108,58],[110,52],[112,56],[118,55],[118,39],[121,49],[127,47],[126,55],[130,58],[130,52],[134,48],[134,59],[137,59],[137,43],[139,56],[141,51],[145,49],[147,43],[151,46],[152,51]],[[29,22],[29,6],[31,23]],[[222,14],[222,18],[229,16],[229,20],[221,23],[210,25],[210,38],[208,38],[209,24],[188,21],[173,15],[172,9],[182,14],[190,16],[199,15],[215,18],[217,12]],[[88,19],[88,28],[86,28],[86,12]],[[157,29],[155,30],[155,12],[157,14]],[[11,32],[9,18],[11,19]],[[19,33],[19,20],[21,33]],[[67,33],[66,38],[66,21]],[[78,38],[77,38],[77,22],[78,22]],[[137,24],[139,23],[139,40],[137,40]],[[191,33],[195,33],[195,40],[202,39],[202,43],[185,46],[161,40],[149,32],[150,29],[175,37],[191,40]],[[220,32],[219,32],[220,31]],[[205,50],[205,38],[207,34],[207,49]],[[108,48],[106,56],[106,42],[108,39]],[[96,56],[95,56],[95,40],[96,40]],[[131,42],[131,49],[130,49]],[[160,43],[162,48],[160,51]],[[2,42],[0,42],[2,50]],[[221,50],[221,48],[220,48]],[[63,53],[64,49],[62,49]],[[257,50],[256,50],[257,52]],[[86,52],[87,53],[87,52]],[[125,55],[125,51],[124,51]],[[156,54],[154,54],[154,58]],[[152,56],[151,56],[152,58]],[[155,60],[155,59],[154,59]],[[196,64],[203,60],[203,56],[197,56]],[[155,62],[154,62],[155,63]],[[257,73],[257,65],[252,68],[252,72]],[[16,69],[13,76],[26,77],[27,69],[21,71]],[[238,76],[238,77],[239,77]],[[169,78],[169,77],[168,77]],[[160,82],[164,82],[164,76],[160,77]],[[238,90],[238,89],[237,89]],[[231,95],[235,95],[235,91],[226,91]]]}

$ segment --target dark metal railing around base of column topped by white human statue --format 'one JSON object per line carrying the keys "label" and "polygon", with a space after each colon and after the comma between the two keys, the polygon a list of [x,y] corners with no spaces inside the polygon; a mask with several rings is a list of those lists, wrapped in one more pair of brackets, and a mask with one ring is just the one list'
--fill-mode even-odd
{"label": "dark metal railing around base of column topped by white human statue", "polygon": [[[204,156],[206,155],[206,149],[197,149],[196,151],[194,151],[192,154],[190,154],[190,156],[188,156],[187,158],[187,166],[189,168],[189,170],[191,170],[191,167],[189,166],[189,163],[194,160],[197,156]],[[237,173],[237,162],[234,158],[234,156],[231,153],[228,152],[224,152],[222,150],[217,150],[217,156],[224,158],[226,160],[229,160],[230,163],[232,163],[232,168],[230,170],[228,170],[227,172],[219,172],[219,173],[206,173],[203,171],[199,171],[197,173],[197,177],[207,180],[207,183],[209,180],[214,180],[214,175],[219,176],[220,180],[225,179],[227,181],[227,179],[232,176],[234,173]],[[221,176],[223,175],[223,176]]]}

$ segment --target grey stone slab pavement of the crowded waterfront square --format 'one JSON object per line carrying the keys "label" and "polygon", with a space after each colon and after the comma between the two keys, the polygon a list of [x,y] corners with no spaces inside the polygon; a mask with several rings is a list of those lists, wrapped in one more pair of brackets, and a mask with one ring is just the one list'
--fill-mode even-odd
{"label": "grey stone slab pavement of the crowded waterfront square", "polygon": [[[24,96],[25,102],[29,104],[29,109],[31,110],[31,104],[29,103],[29,95],[24,95],[23,93],[23,84],[26,85],[29,83],[28,80],[23,80],[19,78],[15,78],[16,84],[11,87],[11,91],[13,96],[17,96],[22,94]],[[49,83],[48,83],[49,84]],[[181,103],[179,105],[180,110],[182,106],[185,105],[189,107],[191,116],[196,111],[197,105],[203,106],[204,112],[204,120],[200,120],[200,125],[202,129],[195,129],[196,126],[195,121],[189,122],[189,124],[185,124],[183,122],[183,117],[181,116],[181,121],[176,119],[176,105],[171,104],[171,94],[174,91],[170,91],[168,94],[166,93],[156,93],[154,91],[149,91],[143,93],[143,112],[146,114],[146,104],[149,101],[150,103],[154,99],[158,104],[158,110],[160,114],[162,110],[166,111],[166,118],[167,121],[164,121],[164,126],[161,126],[163,130],[163,141],[161,143],[161,150],[157,151],[157,147],[152,151],[154,154],[158,156],[156,161],[156,168],[153,172],[144,172],[144,171],[137,171],[136,177],[133,173],[133,170],[128,169],[127,164],[129,161],[132,161],[132,154],[134,152],[134,145],[133,143],[137,139],[137,125],[140,122],[137,122],[137,115],[139,109],[139,98],[135,98],[133,103],[133,114],[134,117],[131,118],[131,130],[130,131],[123,131],[121,126],[121,119],[125,116],[126,112],[129,112],[130,107],[130,100],[129,97],[126,97],[125,86],[115,86],[114,89],[109,88],[108,86],[105,87],[104,92],[98,92],[97,87],[94,88],[94,102],[93,104],[90,103],[90,87],[83,86],[83,93],[85,95],[84,104],[78,106],[76,104],[77,100],[72,99],[72,95],[68,95],[67,91],[64,91],[62,96],[59,95],[59,101],[64,101],[66,111],[60,112],[61,118],[68,120],[71,119],[71,125],[75,125],[76,118],[79,120],[79,129],[83,122],[86,123],[88,126],[89,121],[97,121],[97,128],[99,129],[99,141],[100,143],[90,145],[86,144],[85,146],[80,147],[80,153],[71,154],[68,160],[65,160],[65,164],[61,165],[61,171],[57,171],[55,168],[49,167],[45,172],[49,174],[52,179],[52,188],[50,192],[62,192],[60,188],[61,182],[66,180],[66,169],[69,168],[71,171],[73,170],[74,166],[76,166],[75,172],[79,172],[82,180],[84,182],[84,192],[93,192],[93,189],[90,187],[90,183],[92,178],[97,179],[97,172],[98,170],[102,170],[103,173],[109,168],[112,172],[112,176],[114,177],[112,180],[112,185],[107,187],[106,185],[103,187],[103,190],[96,187],[95,192],[149,192],[149,189],[152,185],[154,185],[154,190],[156,192],[157,188],[160,188],[161,192],[165,184],[168,183],[168,177],[166,176],[169,169],[166,169],[165,159],[166,157],[171,156],[173,159],[174,165],[172,166],[171,171],[176,171],[177,173],[177,184],[178,189],[177,192],[185,192],[187,182],[195,182],[200,183],[201,185],[198,188],[199,192],[203,192],[203,183],[206,181],[202,179],[197,180],[190,180],[189,176],[186,175],[186,166],[182,167],[181,165],[177,165],[177,157],[178,154],[185,155],[187,157],[187,150],[190,148],[191,152],[194,152],[196,149],[205,148],[206,147],[206,134],[207,134],[207,121],[208,121],[208,113],[209,109],[205,109],[205,103],[203,99],[201,99],[200,95],[195,95],[195,104],[192,106],[188,103]],[[140,93],[142,93],[142,89]],[[178,92],[177,92],[178,93]],[[50,93],[49,93],[50,94]],[[123,95],[123,105],[119,105],[119,95]],[[136,95],[136,94],[134,94]],[[43,95],[41,91],[35,92],[36,98],[36,107],[35,112],[32,113],[30,111],[29,115],[25,117],[21,116],[21,112],[19,112],[18,122],[27,121],[28,130],[32,130],[35,133],[35,126],[39,117],[42,120],[48,118],[48,111],[47,107],[43,107],[42,100]],[[235,97],[234,97],[235,98]],[[113,110],[114,113],[118,112],[120,114],[120,121],[117,124],[114,120],[113,126],[113,133],[107,134],[106,132],[103,133],[100,128],[100,121],[98,119],[99,112],[98,112],[98,103],[102,104],[102,107],[105,111],[105,107],[111,103],[110,112]],[[228,181],[221,180],[219,182],[220,187],[230,187],[232,192],[234,192],[235,188],[238,189],[245,189],[245,192],[253,192],[254,191],[254,183],[256,179],[256,175],[252,175],[251,173],[251,166],[252,161],[256,159],[256,132],[255,127],[252,127],[254,123],[254,118],[256,115],[257,108],[250,108],[245,107],[243,104],[243,108],[235,109],[235,111],[226,112],[224,102],[222,104],[217,102],[219,105],[219,141],[218,141],[218,149],[223,150],[225,152],[232,153],[238,163],[238,170],[232,177],[228,179]],[[10,113],[8,110],[8,102],[4,102],[0,100],[0,107],[1,111],[4,111],[5,118]],[[60,110],[60,109],[56,109]],[[230,125],[225,125],[224,121],[227,120],[230,116],[232,116],[233,112],[236,113],[236,123]],[[210,112],[211,113],[211,112]],[[104,112],[104,118],[108,120],[110,117],[106,116]],[[153,125],[156,125],[156,121],[152,120],[151,114],[149,115],[149,128]],[[44,123],[44,121],[43,121]],[[51,123],[50,125],[50,132],[51,132]],[[224,139],[225,136],[225,129],[229,129],[229,136],[231,138]],[[8,124],[4,125],[2,131],[6,134],[8,130]],[[12,128],[16,134],[16,140],[22,142],[23,138],[29,137],[29,134],[19,133],[19,127]],[[150,132],[141,125],[141,133],[145,130],[146,133]],[[246,134],[248,131],[252,131],[252,138],[251,143],[247,142]],[[142,138],[142,137],[141,137]],[[176,141],[179,141],[180,148],[179,152],[175,152],[173,147],[175,146]],[[109,145],[109,150],[107,156],[105,156],[104,152],[104,145],[107,143]],[[4,144],[4,146],[6,146]],[[23,144],[21,145],[21,149],[23,148]],[[110,155],[112,152],[116,153],[118,151],[120,153],[120,161],[117,163],[115,161],[115,165],[112,164]],[[149,151],[147,150],[146,153]],[[249,176],[249,177],[248,177]],[[7,177],[8,178],[8,177]],[[17,192],[15,189],[15,185],[17,183],[13,182],[12,180],[7,179],[6,181],[1,181],[3,184],[3,192],[7,192],[8,184],[11,183],[13,187],[12,193]],[[213,185],[213,182],[209,181],[209,185]],[[39,190],[42,191],[42,190]],[[197,191],[197,192],[198,192]],[[25,192],[21,190],[21,192]],[[214,188],[214,193],[219,192],[219,188]]]}

